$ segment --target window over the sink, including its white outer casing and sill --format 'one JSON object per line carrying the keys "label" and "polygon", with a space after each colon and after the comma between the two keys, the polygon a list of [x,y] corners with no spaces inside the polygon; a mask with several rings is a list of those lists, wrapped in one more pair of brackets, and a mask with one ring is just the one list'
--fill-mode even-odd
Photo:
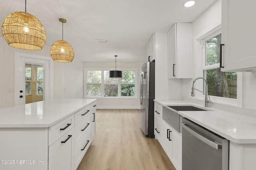
{"label": "window over the sink, including its white outer casing and sill", "polygon": [[[194,41],[196,77],[204,77],[208,82],[208,95],[214,103],[242,106],[241,72],[221,72],[220,43],[222,39],[221,25],[198,35]],[[201,49],[201,50],[200,50]],[[199,51],[200,50],[200,51]],[[205,91],[205,83],[195,84],[196,88]],[[195,92],[195,97],[204,100],[205,95]]]}

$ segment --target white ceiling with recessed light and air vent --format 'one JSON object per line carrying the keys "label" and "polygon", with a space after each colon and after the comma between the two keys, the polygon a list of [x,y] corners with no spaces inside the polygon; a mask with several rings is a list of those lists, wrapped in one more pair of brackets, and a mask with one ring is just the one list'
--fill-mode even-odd
{"label": "white ceiling with recessed light and air vent", "polygon": [[[175,22],[193,22],[216,0],[196,0],[190,8],[182,6],[185,1],[27,0],[26,12],[44,25],[49,46],[62,39],[59,18],[65,18],[63,39],[74,48],[75,59],[114,62],[118,55],[117,62],[144,62],[154,32],[167,32]],[[25,11],[25,0],[0,0],[0,4],[0,22],[12,12]]]}

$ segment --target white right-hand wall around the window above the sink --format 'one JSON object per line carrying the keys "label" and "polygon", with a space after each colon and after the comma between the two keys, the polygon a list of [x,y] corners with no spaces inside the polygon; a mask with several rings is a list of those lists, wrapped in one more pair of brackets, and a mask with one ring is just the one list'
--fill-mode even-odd
{"label": "white right-hand wall around the window above the sink", "polygon": [[[210,19],[209,19],[210,18]],[[194,78],[202,76],[202,49],[200,43],[196,40],[201,36],[205,35],[212,29],[221,25],[221,0],[215,2],[208,10],[206,10],[199,18],[193,22],[193,64],[194,64]],[[243,88],[242,88],[242,100],[243,108],[231,108],[227,105],[220,106],[222,109],[233,109],[235,112],[250,112],[250,115],[255,113],[256,105],[256,72],[244,72],[243,74]],[[193,78],[193,79],[194,79]],[[183,79],[182,80],[182,99],[188,99],[191,94],[192,80],[193,79]],[[200,84],[200,83],[198,83]],[[195,84],[198,86],[198,84]],[[199,85],[200,86],[200,85]],[[197,87],[202,89],[201,87]],[[199,92],[200,93],[200,92]],[[204,101],[201,102],[202,104]],[[216,106],[216,104],[214,104]]]}

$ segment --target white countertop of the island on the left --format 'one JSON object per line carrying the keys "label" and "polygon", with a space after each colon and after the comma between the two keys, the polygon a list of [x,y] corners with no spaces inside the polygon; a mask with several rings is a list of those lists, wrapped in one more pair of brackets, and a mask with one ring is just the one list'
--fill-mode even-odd
{"label": "white countertop of the island on the left", "polygon": [[96,99],[53,99],[0,109],[1,127],[51,127]]}

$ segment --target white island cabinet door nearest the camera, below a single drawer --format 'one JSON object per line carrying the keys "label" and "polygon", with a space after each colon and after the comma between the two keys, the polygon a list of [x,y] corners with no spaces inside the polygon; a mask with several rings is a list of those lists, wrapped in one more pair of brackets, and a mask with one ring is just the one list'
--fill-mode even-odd
{"label": "white island cabinet door nearest the camera, below a single drawer", "polygon": [[49,170],[74,169],[74,144],[72,134],[67,133],[49,147]]}

